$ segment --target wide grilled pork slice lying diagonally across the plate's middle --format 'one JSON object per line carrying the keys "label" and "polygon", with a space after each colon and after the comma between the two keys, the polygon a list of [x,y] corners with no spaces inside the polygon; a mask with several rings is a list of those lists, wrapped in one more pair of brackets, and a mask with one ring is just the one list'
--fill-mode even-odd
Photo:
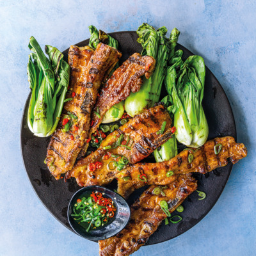
{"label": "wide grilled pork slice lying diagonally across the plate's middle", "polygon": [[[164,133],[159,134],[163,122],[166,122]],[[115,166],[110,166],[110,162],[116,160],[114,156],[125,156],[129,163],[138,163],[172,136],[171,123],[162,104],[143,111],[109,134],[95,152],[77,161],[72,171],[66,174],[66,179],[75,177],[79,186],[108,184],[118,172]],[[122,145],[121,140],[127,145]],[[90,172],[88,164],[96,161],[100,161],[102,167]]]}

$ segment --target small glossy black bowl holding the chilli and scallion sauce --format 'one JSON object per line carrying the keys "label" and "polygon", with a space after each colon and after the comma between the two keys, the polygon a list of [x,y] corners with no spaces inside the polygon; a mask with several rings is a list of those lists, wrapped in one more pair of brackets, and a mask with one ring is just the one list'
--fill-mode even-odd
{"label": "small glossy black bowl holding the chilli and scallion sauce", "polygon": [[[97,191],[100,193],[105,193],[105,195],[111,198],[116,206],[115,217],[112,222],[108,225],[103,226],[102,228],[90,230],[86,232],[86,230],[79,225],[74,218],[71,216],[72,209],[74,204],[76,204],[76,200],[78,198],[83,197],[84,195],[88,196],[88,193],[92,191]],[[71,198],[68,204],[68,222],[73,230],[81,237],[86,239],[90,239],[92,241],[99,241],[107,239],[111,236],[115,236],[118,232],[120,232],[130,220],[131,211],[127,202],[124,200],[122,196],[111,191],[110,189],[103,188],[100,186],[88,186],[82,189],[79,189]]]}

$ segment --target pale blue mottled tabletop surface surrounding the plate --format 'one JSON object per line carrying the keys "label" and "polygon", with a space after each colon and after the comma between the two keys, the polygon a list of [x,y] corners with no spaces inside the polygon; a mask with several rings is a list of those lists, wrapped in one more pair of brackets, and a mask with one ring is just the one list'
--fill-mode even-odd
{"label": "pale blue mottled tabletop surface surrounding the plate", "polygon": [[98,255],[98,245],[76,236],[44,208],[22,165],[19,130],[29,93],[28,41],[61,51],[106,32],[136,30],[142,22],[181,31],[179,43],[205,59],[234,111],[237,138],[248,157],[234,166],[223,194],[204,220],[144,255],[255,255],[255,1],[0,1],[1,179],[0,255]]}

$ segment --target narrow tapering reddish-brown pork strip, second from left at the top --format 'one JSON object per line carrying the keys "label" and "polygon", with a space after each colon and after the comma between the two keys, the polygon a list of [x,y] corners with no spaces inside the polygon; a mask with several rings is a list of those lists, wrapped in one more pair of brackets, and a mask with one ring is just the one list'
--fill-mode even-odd
{"label": "narrow tapering reddish-brown pork strip, second from left at the top", "polygon": [[[145,75],[148,79],[155,68],[156,60],[150,56],[141,56],[134,53],[126,60],[122,66],[117,68],[113,75],[104,84],[97,102],[92,111],[92,127],[88,138],[97,130],[105,113],[115,104],[125,100],[131,92],[138,92],[143,83],[141,77]],[[98,113],[100,115],[96,114]],[[89,143],[84,145],[79,154],[79,158],[84,157]]]}

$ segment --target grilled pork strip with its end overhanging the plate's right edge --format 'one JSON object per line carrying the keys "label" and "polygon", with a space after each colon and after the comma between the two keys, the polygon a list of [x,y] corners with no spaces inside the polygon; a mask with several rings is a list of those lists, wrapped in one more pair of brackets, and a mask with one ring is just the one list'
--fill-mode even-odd
{"label": "grilled pork strip with its end overhanging the plate's right edge", "polygon": [[[221,145],[218,154],[214,152]],[[247,150],[242,143],[236,143],[232,137],[216,138],[207,141],[198,149],[190,148],[184,150],[169,161],[161,163],[138,163],[127,166],[123,172],[129,176],[129,180],[118,179],[118,193],[127,198],[131,193],[145,185],[166,185],[176,179],[177,174],[200,172],[207,173],[212,170],[226,166],[228,158],[232,163],[237,163],[239,159],[246,157]],[[173,175],[166,177],[167,173],[172,171]],[[147,182],[142,182],[138,176],[145,173]]]}

